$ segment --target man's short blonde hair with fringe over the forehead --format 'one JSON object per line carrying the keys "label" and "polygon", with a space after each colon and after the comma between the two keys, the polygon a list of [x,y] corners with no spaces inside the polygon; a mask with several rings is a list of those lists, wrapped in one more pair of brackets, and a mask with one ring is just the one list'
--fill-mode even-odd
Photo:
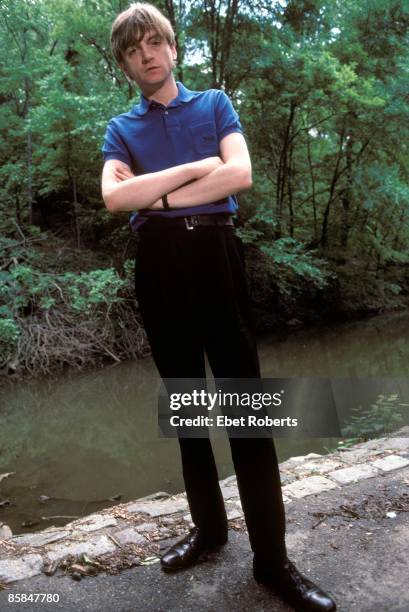
{"label": "man's short blonde hair with fringe over the forehead", "polygon": [[163,36],[170,46],[175,44],[175,33],[169,19],[152,4],[137,2],[118,15],[111,29],[112,53],[118,64],[123,62],[124,51],[141,41],[151,30]]}

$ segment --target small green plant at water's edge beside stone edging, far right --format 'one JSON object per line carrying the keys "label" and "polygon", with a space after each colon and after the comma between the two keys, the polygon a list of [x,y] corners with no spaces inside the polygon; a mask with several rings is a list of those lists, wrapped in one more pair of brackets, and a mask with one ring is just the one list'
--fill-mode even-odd
{"label": "small green plant at water's edge beside stone edging, far right", "polygon": [[342,428],[342,436],[346,438],[343,446],[356,444],[362,440],[376,438],[383,433],[391,433],[403,424],[398,395],[379,395],[376,402],[369,408],[354,408],[353,414]]}

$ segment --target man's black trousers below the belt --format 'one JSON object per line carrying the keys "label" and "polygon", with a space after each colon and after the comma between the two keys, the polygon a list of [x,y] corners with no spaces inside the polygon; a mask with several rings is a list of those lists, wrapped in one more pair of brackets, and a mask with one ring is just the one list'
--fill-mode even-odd
{"label": "man's black trousers below the belt", "polygon": [[[140,229],[135,289],[162,378],[205,379],[205,353],[215,378],[258,378],[242,245],[228,226],[187,230],[168,219]],[[271,438],[230,438],[253,552],[286,556],[280,474]],[[212,537],[227,531],[211,442],[179,438],[193,523]]]}

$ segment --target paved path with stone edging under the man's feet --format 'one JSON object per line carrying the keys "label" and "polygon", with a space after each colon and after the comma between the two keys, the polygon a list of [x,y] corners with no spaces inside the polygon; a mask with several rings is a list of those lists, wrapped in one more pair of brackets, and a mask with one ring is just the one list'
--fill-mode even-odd
{"label": "paved path with stone edging under the man's feet", "polygon": [[[407,432],[404,433],[407,435]],[[291,481],[284,486],[287,491],[285,494],[290,500],[286,504],[289,556],[296,562],[299,569],[319,582],[336,598],[338,610],[341,612],[407,612],[409,610],[407,590],[409,466],[402,464],[402,461],[408,457],[408,450],[404,448],[405,440],[409,445],[409,438],[404,437],[401,433],[399,437],[391,438],[389,441],[384,439],[366,446],[360,445],[352,451],[346,451],[350,460],[348,465],[351,466],[353,462],[353,466],[357,468],[358,465],[357,469],[361,470],[360,475],[357,475],[357,479],[352,482],[348,481],[350,475],[348,472],[346,476],[345,472],[343,475],[338,475],[340,479],[338,481],[328,475],[322,476],[322,474],[328,474],[324,470],[324,463],[327,464],[325,469],[333,468],[334,466],[329,465],[328,462],[337,463],[339,454],[322,458],[310,456],[298,460],[293,459],[291,470],[291,462],[286,462],[281,466],[283,474],[287,473],[288,480]],[[355,453],[355,456],[351,453]],[[391,457],[396,457],[396,459],[391,460]],[[346,458],[347,455],[344,457],[344,462],[348,463],[345,461]],[[387,462],[379,463],[388,458]],[[313,475],[308,471],[310,468],[304,472],[301,469],[301,465],[305,467],[306,463],[311,461],[316,462]],[[376,464],[378,467],[374,462],[378,462]],[[360,467],[362,465],[369,465],[375,468],[376,472],[371,472],[368,467]],[[289,474],[294,473],[294,466],[298,466],[298,474],[304,474],[304,476],[292,480]],[[321,471],[318,466],[321,466]],[[346,469],[348,468],[345,466],[338,466],[331,471]],[[308,478],[327,478],[331,483],[335,483],[335,486],[324,486],[319,491],[310,490],[306,493],[305,486],[303,487],[301,483],[304,481],[305,485]],[[348,482],[341,482],[345,480]],[[313,481],[313,489],[318,486],[317,482],[317,480]],[[293,483],[298,488],[293,487],[290,495],[286,487]],[[224,484],[225,492],[228,488],[234,489],[232,479]],[[233,494],[234,491],[231,490],[230,493]],[[227,491],[226,494],[230,493]],[[230,499],[234,500],[235,497]],[[176,501],[181,504],[181,500],[183,497]],[[165,502],[169,504],[171,500],[164,500],[163,503]],[[161,502],[148,500],[138,503],[156,504],[156,511],[158,511],[157,505]],[[236,503],[234,501],[230,504],[234,506],[232,511],[234,510],[235,513]],[[148,509],[152,510],[152,507],[148,505]],[[180,513],[183,511],[183,508],[179,510]],[[107,520],[106,515],[100,516],[105,516],[104,520]],[[123,516],[126,516],[126,513],[123,513]],[[144,516],[145,526],[156,524],[156,535],[158,535],[158,529],[163,528],[161,525],[164,519],[180,515],[173,513],[158,515],[156,518],[151,515],[148,521],[146,514],[141,514],[141,516]],[[117,518],[117,520],[125,519]],[[176,521],[173,527],[170,527],[172,523],[168,523],[164,528],[170,529],[171,532],[172,529],[174,532],[179,532],[182,528],[186,529],[186,516],[184,521],[183,524]],[[104,532],[107,540],[111,541],[106,535],[109,530],[116,529],[117,534],[125,531],[123,524],[118,523],[115,527],[101,527],[101,524],[99,529],[88,533],[89,538],[103,537],[101,534]],[[92,520],[89,525],[92,525]],[[138,525],[140,527],[141,523],[136,524],[136,530]],[[139,610],[144,612],[176,612],[179,610],[262,612],[276,610],[277,612],[288,612],[288,607],[268,589],[257,585],[252,579],[252,556],[242,518],[240,516],[233,518],[231,527],[228,545],[194,569],[176,575],[166,575],[161,572],[159,564],[154,563],[126,569],[118,575],[101,573],[96,576],[86,576],[80,582],[74,581],[69,575],[64,575],[61,569],[58,569],[51,577],[38,573],[17,582],[9,582],[7,589],[0,592],[0,610],[2,612],[6,610],[30,610],[30,612],[33,610],[52,610],[53,612],[56,610],[67,612],[85,612],[86,610],[99,612]],[[157,552],[158,547],[164,548],[173,541],[173,538],[164,539],[162,537],[165,532],[162,536],[159,534],[160,537],[157,539],[155,539],[155,533],[152,533],[151,546],[153,549],[151,553],[152,551]],[[175,536],[176,533],[172,535]],[[68,540],[65,538],[58,543],[58,546],[72,546],[72,541],[72,538]],[[115,547],[115,543],[113,541],[111,543]],[[5,545],[4,542],[3,545]],[[55,544],[47,544],[37,549],[30,548],[27,554],[37,554],[41,557],[45,551],[48,551],[49,554],[52,546],[55,550],[58,549]],[[38,552],[33,553],[33,550]],[[122,550],[122,552],[126,551],[126,548]],[[135,544],[133,552],[141,554],[140,545]],[[9,551],[8,560],[5,555],[3,550],[3,561],[8,561],[9,564],[13,560],[21,560],[24,557],[24,555],[18,557],[15,550]],[[99,558],[104,559],[104,556]],[[72,567],[68,566],[67,571],[71,572]],[[50,604],[9,602],[9,596],[17,593],[57,593],[60,601]]]}

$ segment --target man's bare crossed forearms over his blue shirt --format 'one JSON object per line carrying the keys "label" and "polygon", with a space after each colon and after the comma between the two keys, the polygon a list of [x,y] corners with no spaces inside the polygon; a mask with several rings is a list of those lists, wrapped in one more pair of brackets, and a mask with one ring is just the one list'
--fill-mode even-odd
{"label": "man's bare crossed forearms over his blue shirt", "polygon": [[[185,208],[216,202],[249,189],[251,162],[244,137],[233,132],[220,141],[220,157],[173,166],[159,172],[134,176],[130,167],[116,159],[105,162],[102,197],[114,213],[141,208],[163,209],[168,194],[170,208]],[[191,182],[189,185],[185,183]]]}

